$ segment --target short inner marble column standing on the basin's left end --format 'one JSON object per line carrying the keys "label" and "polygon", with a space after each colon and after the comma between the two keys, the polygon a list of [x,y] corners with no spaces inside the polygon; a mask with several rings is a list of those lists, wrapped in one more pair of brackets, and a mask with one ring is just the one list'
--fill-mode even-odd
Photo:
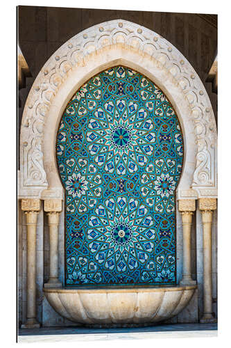
{"label": "short inner marble column standing on the basin's left end", "polygon": [[44,211],[48,216],[50,242],[50,274],[44,287],[62,287],[58,280],[58,224],[62,212],[62,200],[44,200]]}

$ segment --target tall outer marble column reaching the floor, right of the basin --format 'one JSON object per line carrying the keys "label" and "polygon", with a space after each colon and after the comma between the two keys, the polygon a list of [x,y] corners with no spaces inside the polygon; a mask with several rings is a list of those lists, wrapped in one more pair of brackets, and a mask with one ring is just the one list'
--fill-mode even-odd
{"label": "tall outer marble column reaching the floor, right of the basin", "polygon": [[200,198],[199,209],[203,223],[203,296],[204,313],[201,323],[216,322],[212,314],[212,214],[216,198]]}

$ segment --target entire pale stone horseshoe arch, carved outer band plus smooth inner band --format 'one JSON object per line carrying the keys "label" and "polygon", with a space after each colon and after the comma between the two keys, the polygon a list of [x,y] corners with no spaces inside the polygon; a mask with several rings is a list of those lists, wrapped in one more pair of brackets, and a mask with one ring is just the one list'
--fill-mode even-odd
{"label": "entire pale stone horseshoe arch, carved outer band plus smooth inner band", "polygon": [[62,112],[87,79],[119,64],[151,79],[176,110],[185,143],[177,198],[217,196],[216,122],[202,81],[170,42],[144,26],[116,19],[75,35],[37,75],[22,117],[19,198],[63,197],[55,160]]}

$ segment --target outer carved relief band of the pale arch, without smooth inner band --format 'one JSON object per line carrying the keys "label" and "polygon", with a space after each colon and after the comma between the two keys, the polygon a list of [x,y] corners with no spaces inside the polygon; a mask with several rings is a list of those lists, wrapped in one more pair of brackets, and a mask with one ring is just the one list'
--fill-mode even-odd
{"label": "outer carved relief band of the pale arch, without smooth inner band", "polygon": [[[122,19],[92,26],[66,42],[45,63],[28,95],[22,118],[22,190],[24,187],[47,187],[42,153],[44,120],[48,117],[52,100],[72,69],[87,64],[92,54],[114,46],[139,52],[150,63],[171,74],[180,86],[182,98],[191,108],[187,117],[194,122],[197,143],[196,170],[193,188],[216,187],[216,123],[205,87],[194,68],[170,42],[160,35]],[[190,188],[190,187],[189,187]]]}

